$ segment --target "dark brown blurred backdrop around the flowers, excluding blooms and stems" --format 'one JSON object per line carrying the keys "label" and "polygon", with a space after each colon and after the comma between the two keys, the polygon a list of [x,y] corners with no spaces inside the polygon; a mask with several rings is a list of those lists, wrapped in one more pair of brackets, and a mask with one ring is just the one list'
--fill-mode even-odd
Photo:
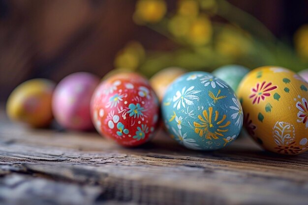
{"label": "dark brown blurred backdrop around the flowers, excluding blooms and stems", "polygon": [[[176,0],[167,0],[173,9]],[[230,0],[290,43],[308,22],[307,0]],[[172,49],[168,39],[132,21],[135,0],[0,0],[0,101],[21,82],[55,81],[77,71],[99,76],[127,41]]]}

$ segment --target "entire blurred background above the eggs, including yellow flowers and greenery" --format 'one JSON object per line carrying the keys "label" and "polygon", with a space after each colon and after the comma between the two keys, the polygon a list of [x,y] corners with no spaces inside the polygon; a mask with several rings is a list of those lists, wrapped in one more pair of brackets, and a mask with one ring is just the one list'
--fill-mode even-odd
{"label": "entire blurred background above the eggs, including yellow flowers and greenery", "polygon": [[0,0],[0,101],[31,78],[112,69],[308,68],[308,0]]}

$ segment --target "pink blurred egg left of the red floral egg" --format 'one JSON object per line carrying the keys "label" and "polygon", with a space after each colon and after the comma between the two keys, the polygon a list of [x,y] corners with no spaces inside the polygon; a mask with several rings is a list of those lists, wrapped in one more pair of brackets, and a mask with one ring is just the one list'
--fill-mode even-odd
{"label": "pink blurred egg left of the red floral egg", "polygon": [[63,128],[93,128],[90,101],[98,84],[99,78],[86,72],[70,74],[58,84],[53,95],[52,108],[57,122]]}

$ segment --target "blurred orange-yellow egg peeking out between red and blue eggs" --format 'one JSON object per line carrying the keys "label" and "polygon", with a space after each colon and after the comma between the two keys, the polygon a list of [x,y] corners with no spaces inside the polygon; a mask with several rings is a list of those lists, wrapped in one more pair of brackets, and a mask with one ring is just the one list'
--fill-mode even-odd
{"label": "blurred orange-yellow egg peeking out between red and blue eggs", "polygon": [[158,97],[158,100],[160,102],[169,84],[172,83],[172,81],[174,81],[180,75],[183,75],[185,72],[186,71],[183,68],[168,67],[162,69],[161,71],[157,72],[154,76],[152,76],[152,78],[150,79],[150,84],[154,89]]}

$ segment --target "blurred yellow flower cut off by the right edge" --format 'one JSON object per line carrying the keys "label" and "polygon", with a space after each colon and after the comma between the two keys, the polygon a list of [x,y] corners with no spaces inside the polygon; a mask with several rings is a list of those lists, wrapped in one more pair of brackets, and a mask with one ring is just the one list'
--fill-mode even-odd
{"label": "blurred yellow flower cut off by the right edge", "polygon": [[308,24],[303,25],[296,31],[294,41],[298,54],[308,59]]}

